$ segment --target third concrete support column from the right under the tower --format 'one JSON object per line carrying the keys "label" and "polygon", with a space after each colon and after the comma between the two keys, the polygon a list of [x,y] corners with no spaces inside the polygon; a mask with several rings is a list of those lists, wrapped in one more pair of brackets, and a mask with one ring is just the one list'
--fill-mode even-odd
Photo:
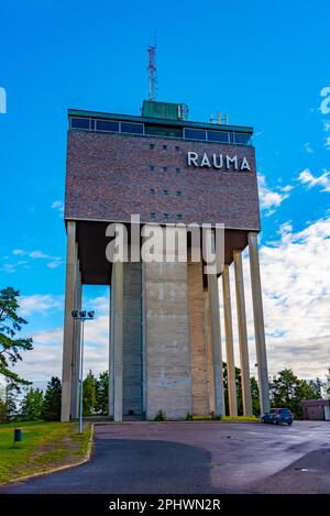
{"label": "third concrete support column from the right under the tower", "polygon": [[229,415],[237,416],[238,415],[238,396],[237,396],[237,380],[235,380],[235,362],[234,362],[233,337],[232,337],[232,315],[231,315],[229,265],[227,264],[223,265],[223,270],[222,270],[222,290],[223,290],[223,314],[224,314],[224,331],[226,331],[227,385],[228,385]]}

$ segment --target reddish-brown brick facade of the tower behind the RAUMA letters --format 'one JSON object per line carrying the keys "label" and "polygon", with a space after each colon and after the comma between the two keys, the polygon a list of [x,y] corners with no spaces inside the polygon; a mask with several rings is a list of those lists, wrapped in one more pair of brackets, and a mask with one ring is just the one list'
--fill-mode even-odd
{"label": "reddish-brown brick facade of the tower behind the RAUMA letters", "polygon": [[[245,156],[251,171],[187,166],[191,151],[237,155],[239,161]],[[130,221],[131,213],[140,213],[142,222],[219,222],[260,230],[254,149],[70,130],[66,219]]]}

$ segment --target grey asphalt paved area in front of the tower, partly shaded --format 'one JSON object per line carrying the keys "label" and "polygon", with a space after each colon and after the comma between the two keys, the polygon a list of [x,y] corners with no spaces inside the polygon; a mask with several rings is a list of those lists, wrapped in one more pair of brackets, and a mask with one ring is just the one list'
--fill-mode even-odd
{"label": "grey asphalt paved area in front of the tower, partly shaded", "polygon": [[98,425],[88,463],[0,493],[330,493],[330,422]]}

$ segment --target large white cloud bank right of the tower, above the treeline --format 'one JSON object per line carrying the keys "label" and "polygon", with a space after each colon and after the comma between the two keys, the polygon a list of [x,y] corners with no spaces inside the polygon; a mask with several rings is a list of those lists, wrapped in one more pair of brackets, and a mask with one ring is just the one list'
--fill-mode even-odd
{"label": "large white cloud bank right of the tower, above the treeline", "polygon": [[[278,241],[260,250],[270,371],[288,366],[305,377],[324,376],[330,365],[330,217],[298,232],[287,222],[278,232]],[[244,267],[253,336],[248,259]]]}

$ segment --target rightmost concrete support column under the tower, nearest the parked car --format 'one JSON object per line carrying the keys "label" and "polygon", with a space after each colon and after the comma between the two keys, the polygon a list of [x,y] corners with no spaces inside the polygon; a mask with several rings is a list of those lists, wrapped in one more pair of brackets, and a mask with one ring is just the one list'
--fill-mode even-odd
{"label": "rightmost concrete support column under the tower, nearest the parked car", "polygon": [[260,408],[261,408],[261,413],[265,413],[270,410],[271,404],[270,404],[270,384],[268,384],[267,355],[266,355],[266,343],[265,343],[263,299],[262,299],[260,262],[258,262],[258,251],[257,251],[257,233],[250,232],[248,238],[249,238],[249,251],[250,251],[251,288],[252,288],[252,301],[253,301],[253,315],[254,315],[254,333],[255,333],[255,348],[256,348],[256,360],[257,360]]}

